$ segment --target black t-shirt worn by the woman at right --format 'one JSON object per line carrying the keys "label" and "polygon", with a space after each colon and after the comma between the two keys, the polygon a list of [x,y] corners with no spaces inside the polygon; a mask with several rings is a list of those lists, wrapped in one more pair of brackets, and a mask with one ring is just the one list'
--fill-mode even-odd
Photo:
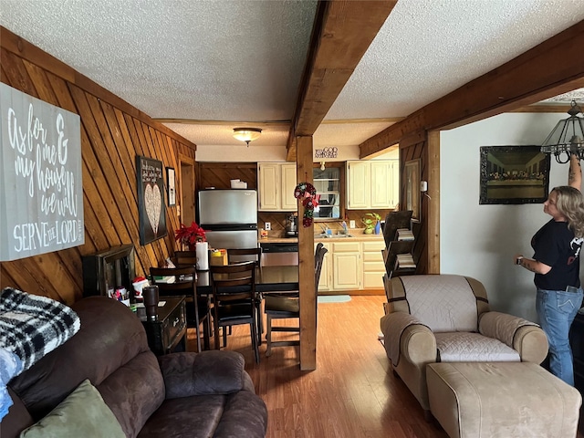
{"label": "black t-shirt worn by the woman at right", "polygon": [[574,237],[567,222],[553,219],[542,226],[531,239],[533,258],[551,270],[536,274],[535,283],[540,289],[566,290],[568,286],[580,286],[579,254],[583,239]]}

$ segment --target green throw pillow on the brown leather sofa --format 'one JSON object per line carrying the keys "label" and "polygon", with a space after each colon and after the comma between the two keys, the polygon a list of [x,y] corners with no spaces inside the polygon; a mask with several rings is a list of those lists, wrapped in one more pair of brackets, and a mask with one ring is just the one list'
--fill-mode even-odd
{"label": "green throw pillow on the brown leather sofa", "polygon": [[115,415],[89,380],[83,381],[45,418],[20,433],[21,438],[84,436],[126,438]]}

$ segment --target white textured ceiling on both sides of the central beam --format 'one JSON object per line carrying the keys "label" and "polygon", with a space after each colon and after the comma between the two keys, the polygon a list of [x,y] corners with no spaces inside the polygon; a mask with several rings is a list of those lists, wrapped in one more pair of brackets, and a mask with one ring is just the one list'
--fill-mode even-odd
{"label": "white textured ceiling on both sides of the central beam", "polygon": [[[316,7],[1,0],[0,24],[153,118],[193,120],[166,124],[198,145],[240,145],[233,128],[251,125],[264,129],[251,146],[281,146]],[[315,147],[360,144],[582,19],[582,0],[399,0],[316,131]]]}

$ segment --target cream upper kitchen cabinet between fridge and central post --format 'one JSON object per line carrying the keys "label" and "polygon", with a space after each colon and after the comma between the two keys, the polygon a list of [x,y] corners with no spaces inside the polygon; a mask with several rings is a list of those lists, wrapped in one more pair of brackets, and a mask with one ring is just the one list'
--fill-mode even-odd
{"label": "cream upper kitchen cabinet between fridge and central post", "polygon": [[260,212],[296,212],[296,163],[258,162],[257,196]]}

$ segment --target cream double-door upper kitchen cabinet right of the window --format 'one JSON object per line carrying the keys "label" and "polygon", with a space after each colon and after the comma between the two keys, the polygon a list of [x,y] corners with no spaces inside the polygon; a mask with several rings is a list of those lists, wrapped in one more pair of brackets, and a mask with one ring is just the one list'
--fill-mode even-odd
{"label": "cream double-door upper kitchen cabinet right of the window", "polygon": [[394,208],[399,200],[397,160],[347,162],[347,208]]}

